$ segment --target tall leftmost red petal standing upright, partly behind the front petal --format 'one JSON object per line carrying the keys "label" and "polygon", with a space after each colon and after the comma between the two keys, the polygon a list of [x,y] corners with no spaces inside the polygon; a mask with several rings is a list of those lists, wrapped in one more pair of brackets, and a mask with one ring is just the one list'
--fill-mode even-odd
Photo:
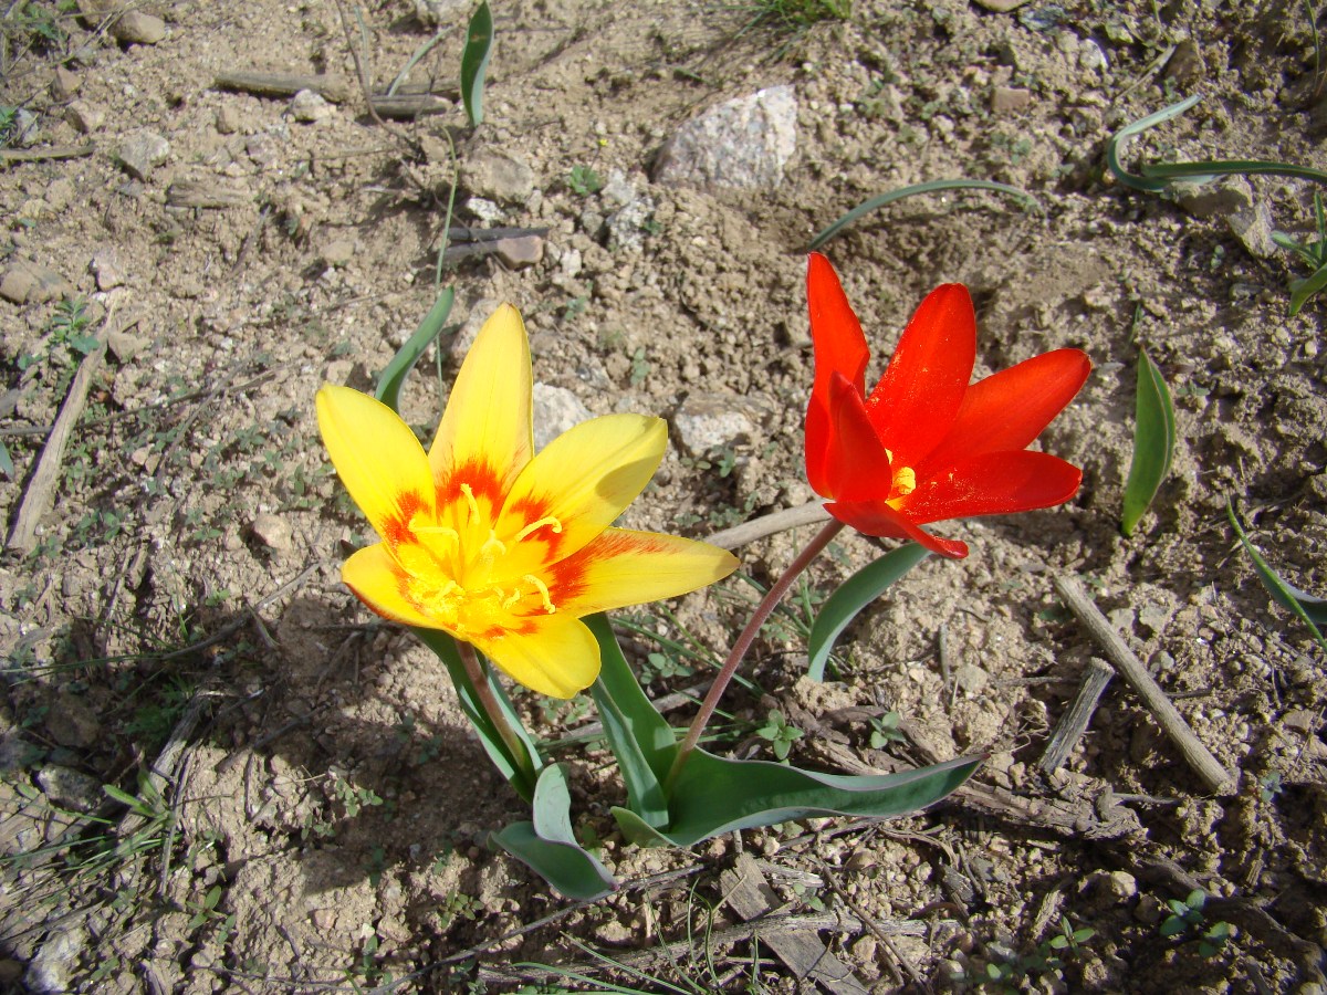
{"label": "tall leftmost red petal standing upright, partly behind the front petal", "polygon": [[819,252],[807,257],[807,304],[816,361],[807,406],[807,479],[817,494],[825,494],[829,488],[825,460],[832,434],[829,379],[839,373],[855,385],[859,397],[865,397],[871,349],[839,276]]}

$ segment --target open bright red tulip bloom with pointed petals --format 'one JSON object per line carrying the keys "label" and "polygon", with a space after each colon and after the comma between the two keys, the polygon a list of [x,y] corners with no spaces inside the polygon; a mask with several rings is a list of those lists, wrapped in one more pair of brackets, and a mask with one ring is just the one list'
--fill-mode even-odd
{"label": "open bright red tulip bloom with pointed petals", "polygon": [[807,478],[835,519],[957,559],[967,556],[963,543],[921,527],[1048,508],[1078,492],[1078,467],[1027,446],[1083,386],[1091,370],[1084,353],[1056,349],[969,383],[973,301],[966,287],[946,284],[917,308],[867,394],[871,349],[819,253],[809,259],[807,297],[816,365]]}

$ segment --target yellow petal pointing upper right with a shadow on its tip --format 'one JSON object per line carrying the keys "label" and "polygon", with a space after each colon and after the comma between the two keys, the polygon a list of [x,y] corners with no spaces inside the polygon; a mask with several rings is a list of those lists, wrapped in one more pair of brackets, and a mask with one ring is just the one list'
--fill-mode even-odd
{"label": "yellow petal pointing upper right with a shadow on its tip", "polygon": [[666,447],[664,421],[637,414],[592,418],[548,443],[507,495],[498,521],[503,570],[537,572],[598,536],[645,488]]}

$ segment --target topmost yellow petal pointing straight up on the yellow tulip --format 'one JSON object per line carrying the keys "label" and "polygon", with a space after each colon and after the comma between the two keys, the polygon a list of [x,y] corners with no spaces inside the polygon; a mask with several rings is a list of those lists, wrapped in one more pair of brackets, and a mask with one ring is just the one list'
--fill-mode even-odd
{"label": "topmost yellow petal pointing straight up on the yellow tulip", "polygon": [[506,491],[535,451],[532,389],[525,325],[503,304],[479,329],[451,387],[429,448],[434,478],[443,483],[454,471],[482,467]]}

